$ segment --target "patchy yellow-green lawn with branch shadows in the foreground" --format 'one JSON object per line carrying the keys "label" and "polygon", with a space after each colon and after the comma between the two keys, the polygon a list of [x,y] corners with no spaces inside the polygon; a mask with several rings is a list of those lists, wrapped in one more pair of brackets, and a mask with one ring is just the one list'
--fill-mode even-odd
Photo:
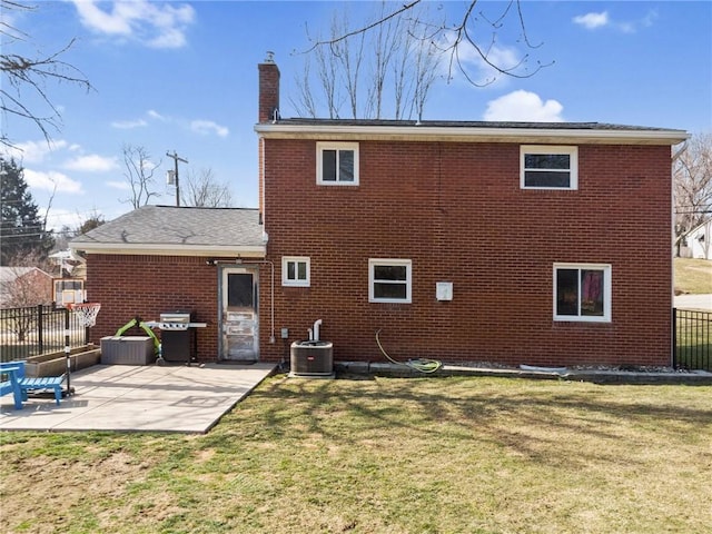
{"label": "patchy yellow-green lawn with branch shadows in the foreground", "polygon": [[711,399],[281,375],[207,435],[0,433],[0,532],[708,533]]}

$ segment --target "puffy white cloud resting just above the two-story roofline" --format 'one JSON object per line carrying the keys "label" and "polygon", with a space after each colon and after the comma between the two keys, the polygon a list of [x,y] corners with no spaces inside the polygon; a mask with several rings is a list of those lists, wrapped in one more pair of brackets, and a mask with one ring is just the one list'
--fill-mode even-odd
{"label": "puffy white cloud resting just above the two-story roofline", "polygon": [[484,120],[562,122],[563,109],[556,100],[544,102],[535,92],[518,90],[487,102]]}

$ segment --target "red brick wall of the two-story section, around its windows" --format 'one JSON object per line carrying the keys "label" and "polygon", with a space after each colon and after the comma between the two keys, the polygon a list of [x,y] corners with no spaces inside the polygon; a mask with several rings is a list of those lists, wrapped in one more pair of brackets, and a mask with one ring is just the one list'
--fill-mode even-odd
{"label": "red brick wall of the two-story section, around its windows", "polygon": [[[337,360],[670,364],[668,146],[580,146],[578,190],[520,189],[520,146],[362,141],[358,187],[316,186],[314,140],[264,141],[276,328],[322,318]],[[281,287],[281,256],[312,286]],[[413,303],[368,303],[368,258],[413,261]],[[552,318],[553,264],[612,266],[612,322]],[[454,298],[435,299],[436,281]],[[261,285],[261,301],[269,299]],[[263,306],[263,325],[265,325]],[[263,359],[281,357],[267,344]]]}

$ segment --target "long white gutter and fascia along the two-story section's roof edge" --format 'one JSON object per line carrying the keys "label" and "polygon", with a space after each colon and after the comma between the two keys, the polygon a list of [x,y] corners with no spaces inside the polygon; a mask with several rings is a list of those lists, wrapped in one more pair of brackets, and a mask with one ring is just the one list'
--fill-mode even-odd
{"label": "long white gutter and fascia along the two-story section's roof edge", "polygon": [[676,145],[690,135],[684,130],[594,128],[479,128],[467,126],[376,126],[258,123],[266,139],[413,140],[461,142],[558,142],[614,145]]}

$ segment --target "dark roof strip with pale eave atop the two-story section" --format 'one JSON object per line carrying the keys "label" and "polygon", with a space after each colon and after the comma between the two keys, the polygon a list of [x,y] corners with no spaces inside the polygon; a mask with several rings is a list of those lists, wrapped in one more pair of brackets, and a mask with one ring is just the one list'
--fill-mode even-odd
{"label": "dark roof strip with pale eave atop the two-story section", "polygon": [[[485,122],[454,120],[278,119],[255,126],[263,137],[413,139],[471,142],[594,142],[676,145],[684,130],[602,122]],[[336,136],[336,137],[335,137]]]}

